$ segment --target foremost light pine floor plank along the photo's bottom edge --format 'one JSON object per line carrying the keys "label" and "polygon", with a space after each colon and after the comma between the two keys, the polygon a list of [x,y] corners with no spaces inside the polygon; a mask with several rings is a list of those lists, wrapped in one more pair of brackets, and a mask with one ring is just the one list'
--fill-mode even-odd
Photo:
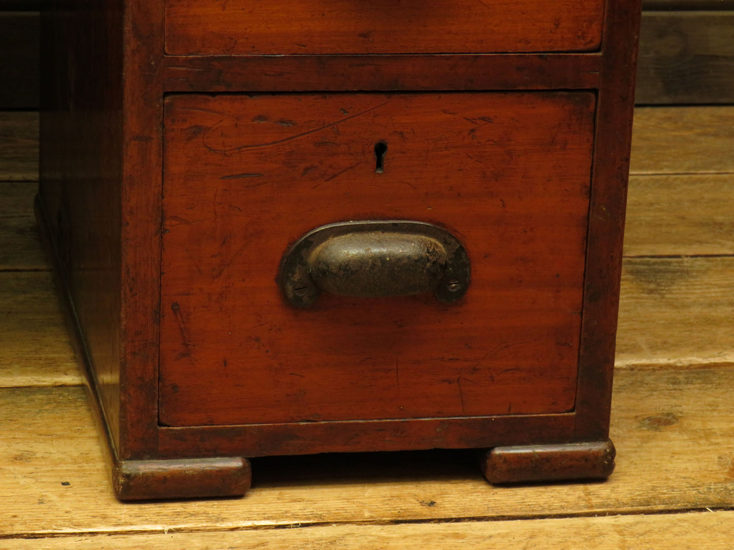
{"label": "foremost light pine floor plank along the photo's bottom edge", "polygon": [[4,540],[7,550],[219,550],[433,548],[564,550],[730,550],[734,512],[656,516],[464,521],[441,524],[329,525],[308,529],[248,529]]}

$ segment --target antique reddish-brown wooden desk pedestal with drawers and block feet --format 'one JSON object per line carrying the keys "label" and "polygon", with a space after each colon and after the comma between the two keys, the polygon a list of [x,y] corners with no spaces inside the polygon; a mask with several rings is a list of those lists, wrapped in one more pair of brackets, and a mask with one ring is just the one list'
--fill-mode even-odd
{"label": "antique reddish-brown wooden desk pedestal with drawers and block feet", "polygon": [[65,1],[40,223],[121,499],[606,477],[639,0]]}

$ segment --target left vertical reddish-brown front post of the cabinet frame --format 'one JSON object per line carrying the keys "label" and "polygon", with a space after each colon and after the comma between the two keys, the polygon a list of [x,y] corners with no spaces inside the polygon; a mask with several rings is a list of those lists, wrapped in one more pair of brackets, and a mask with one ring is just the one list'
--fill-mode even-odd
{"label": "left vertical reddish-brown front post of the cabinet frame", "polygon": [[120,417],[124,427],[118,450],[121,460],[154,457],[158,447],[163,150],[162,6],[160,0],[137,0],[126,1],[125,7],[125,135],[120,188]]}

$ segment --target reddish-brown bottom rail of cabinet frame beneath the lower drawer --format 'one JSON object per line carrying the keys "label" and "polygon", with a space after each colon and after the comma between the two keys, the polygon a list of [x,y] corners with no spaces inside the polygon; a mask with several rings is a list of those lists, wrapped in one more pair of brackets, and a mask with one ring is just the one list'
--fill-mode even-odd
{"label": "reddish-brown bottom rail of cabinet frame beneath the lower drawer", "polygon": [[426,449],[481,449],[498,444],[579,441],[576,414],[524,414],[234,426],[159,427],[159,457],[182,458],[206,441],[212,455],[312,455]]}

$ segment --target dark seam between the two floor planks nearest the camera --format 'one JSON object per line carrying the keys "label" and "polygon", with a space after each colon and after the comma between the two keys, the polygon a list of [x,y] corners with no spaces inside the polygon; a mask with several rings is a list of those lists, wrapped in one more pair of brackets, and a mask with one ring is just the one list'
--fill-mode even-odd
{"label": "dark seam between the two floor planks nearest the camera", "polygon": [[[134,506],[127,504],[126,506]],[[275,531],[279,529],[308,529],[309,527],[390,527],[400,525],[426,525],[426,524],[465,524],[465,523],[499,523],[502,521],[534,521],[539,519],[575,519],[575,518],[616,518],[622,516],[678,516],[688,513],[719,513],[734,510],[730,507],[684,507],[684,508],[650,508],[647,510],[611,511],[608,513],[581,512],[570,514],[533,514],[528,516],[467,516],[447,518],[413,518],[404,520],[365,520],[365,521],[288,521],[282,523],[252,522],[250,525],[230,524],[211,526],[181,526],[167,527],[165,525],[151,526],[149,529],[79,529],[68,531],[48,532],[23,532],[23,533],[0,533],[0,540],[14,539],[42,539],[42,538],[70,538],[70,537],[104,537],[104,536],[131,536],[131,535],[169,535],[169,534],[192,534],[206,532],[235,532],[235,531]]]}

